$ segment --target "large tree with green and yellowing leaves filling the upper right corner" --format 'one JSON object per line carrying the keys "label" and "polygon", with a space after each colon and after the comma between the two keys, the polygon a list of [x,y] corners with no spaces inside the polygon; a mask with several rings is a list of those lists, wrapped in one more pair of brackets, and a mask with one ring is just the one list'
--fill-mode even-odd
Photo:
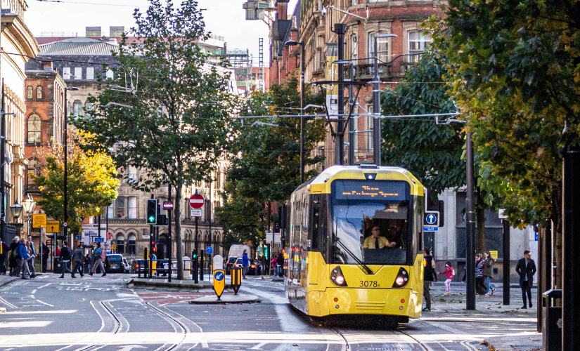
{"label": "large tree with green and yellowing leaves filling the upper right corner", "polygon": [[450,0],[446,17],[431,22],[485,165],[481,184],[505,197],[513,225],[554,221],[559,286],[560,151],[579,132],[578,13],[578,0]]}

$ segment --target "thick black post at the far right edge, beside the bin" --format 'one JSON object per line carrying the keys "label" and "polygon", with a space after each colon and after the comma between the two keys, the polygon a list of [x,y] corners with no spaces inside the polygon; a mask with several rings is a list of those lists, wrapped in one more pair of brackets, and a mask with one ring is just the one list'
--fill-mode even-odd
{"label": "thick black post at the far right edge, beside the bin", "polygon": [[562,350],[576,350],[580,345],[580,147],[565,147],[563,154]]}

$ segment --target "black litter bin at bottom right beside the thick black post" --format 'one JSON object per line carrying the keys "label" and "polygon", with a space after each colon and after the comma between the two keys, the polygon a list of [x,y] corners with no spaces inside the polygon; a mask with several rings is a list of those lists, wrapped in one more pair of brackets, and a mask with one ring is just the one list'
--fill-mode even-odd
{"label": "black litter bin at bottom right beside the thick black post", "polygon": [[542,293],[542,336],[544,351],[562,350],[562,307],[554,307],[554,300],[562,299],[562,289]]}

